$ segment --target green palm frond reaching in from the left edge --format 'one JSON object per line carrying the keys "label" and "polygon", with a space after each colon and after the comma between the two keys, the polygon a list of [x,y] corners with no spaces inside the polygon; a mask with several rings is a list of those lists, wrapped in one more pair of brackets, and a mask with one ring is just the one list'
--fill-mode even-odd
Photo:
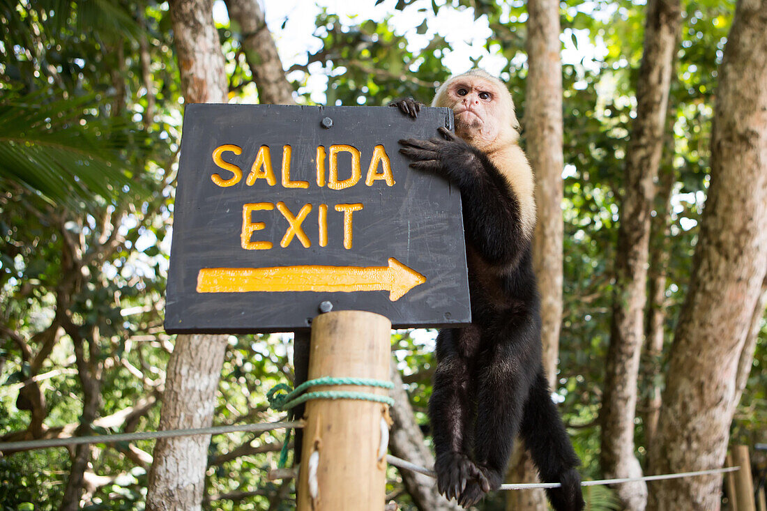
{"label": "green palm frond reaching in from the left edge", "polygon": [[139,187],[120,155],[131,126],[86,114],[97,111],[95,96],[9,95],[0,100],[0,186],[15,183],[68,206],[114,202]]}

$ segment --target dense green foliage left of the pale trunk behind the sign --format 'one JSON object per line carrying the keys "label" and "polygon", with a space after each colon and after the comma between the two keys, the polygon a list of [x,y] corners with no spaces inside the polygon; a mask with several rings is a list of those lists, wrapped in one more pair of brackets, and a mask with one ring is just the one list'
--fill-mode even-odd
{"label": "dense green foliage left of the pale trunk behind the sign", "polygon": [[[81,420],[82,377],[97,381],[97,417],[153,399],[162,383],[160,242],[180,119],[163,15],[127,2],[0,4],[0,435],[28,427],[37,388],[41,427],[55,432]],[[93,24],[87,36],[84,24]],[[140,38],[153,43],[150,68]],[[84,372],[73,356],[81,343]],[[33,386],[30,377],[41,379]],[[158,419],[149,406],[95,431],[155,429]],[[153,442],[134,445],[151,453]],[[91,503],[137,509],[146,470],[128,446],[102,449],[94,447],[92,470],[114,481]],[[6,456],[0,503],[58,509],[69,464],[62,449]]]}

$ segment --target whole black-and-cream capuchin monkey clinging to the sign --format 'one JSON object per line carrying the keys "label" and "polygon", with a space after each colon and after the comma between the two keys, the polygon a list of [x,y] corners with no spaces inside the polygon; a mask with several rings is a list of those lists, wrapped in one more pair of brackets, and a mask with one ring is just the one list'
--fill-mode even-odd
{"label": "whole black-and-cream capuchin monkey clinging to the sign", "polygon": [[[420,104],[397,101],[416,118]],[[535,186],[518,146],[505,84],[484,71],[449,78],[432,101],[453,109],[456,133],[400,140],[417,170],[443,176],[463,201],[472,324],[439,331],[429,417],[437,487],[462,506],[497,490],[517,434],[557,511],[583,509],[576,456],[541,359],[541,314],[532,269]]]}

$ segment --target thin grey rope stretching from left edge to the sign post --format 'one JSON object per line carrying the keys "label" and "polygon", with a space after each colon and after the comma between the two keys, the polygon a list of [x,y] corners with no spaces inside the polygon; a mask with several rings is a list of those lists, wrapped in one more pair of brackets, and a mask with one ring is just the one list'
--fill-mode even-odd
{"label": "thin grey rope stretching from left edge to the sign post", "polygon": [[48,440],[23,440],[18,442],[0,442],[0,451],[47,449],[79,443],[114,443],[133,440],[151,440],[153,438],[190,437],[193,435],[220,435],[239,431],[264,432],[282,428],[304,427],[303,420],[285,422],[262,422],[258,424],[239,424],[234,426],[196,427],[183,430],[141,431],[138,433],[120,433],[111,435],[93,435],[91,437],[51,438]]}

